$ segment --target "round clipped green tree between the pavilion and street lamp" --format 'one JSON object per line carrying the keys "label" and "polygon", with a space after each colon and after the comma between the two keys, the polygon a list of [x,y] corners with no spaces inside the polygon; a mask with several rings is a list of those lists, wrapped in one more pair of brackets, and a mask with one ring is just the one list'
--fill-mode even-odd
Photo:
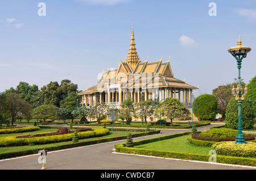
{"label": "round clipped green tree between the pavilion and street lamp", "polygon": [[199,120],[215,120],[217,112],[218,102],[213,95],[200,95],[193,102],[193,113]]}

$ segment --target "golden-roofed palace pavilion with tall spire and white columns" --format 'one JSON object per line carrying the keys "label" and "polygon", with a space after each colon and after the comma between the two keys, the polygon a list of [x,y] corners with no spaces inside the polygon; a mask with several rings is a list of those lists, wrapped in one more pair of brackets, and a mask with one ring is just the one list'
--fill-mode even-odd
{"label": "golden-roofed palace pavilion with tall spire and white columns", "polygon": [[198,88],[175,78],[170,59],[166,62],[162,59],[148,62],[147,58],[146,61],[141,61],[135,48],[132,28],[130,48],[125,61],[119,60],[117,69],[103,71],[97,85],[79,92],[82,106],[105,103],[119,108],[123,100],[130,97],[134,103],[147,99],[161,101],[176,98],[191,108],[192,92]]}

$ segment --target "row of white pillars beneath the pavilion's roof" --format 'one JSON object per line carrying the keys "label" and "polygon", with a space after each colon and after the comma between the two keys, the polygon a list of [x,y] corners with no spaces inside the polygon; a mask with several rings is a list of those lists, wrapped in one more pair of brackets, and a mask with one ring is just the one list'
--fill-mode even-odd
{"label": "row of white pillars beneath the pavilion's roof", "polygon": [[141,102],[142,100],[157,99],[161,101],[166,98],[176,98],[181,102],[181,92],[183,104],[192,103],[192,90],[191,89],[175,89],[175,88],[159,88],[150,90],[123,90],[97,92],[90,95],[82,95],[82,100],[85,106],[95,106],[96,103],[105,102],[106,104],[122,104],[122,102],[130,97],[134,103]]}

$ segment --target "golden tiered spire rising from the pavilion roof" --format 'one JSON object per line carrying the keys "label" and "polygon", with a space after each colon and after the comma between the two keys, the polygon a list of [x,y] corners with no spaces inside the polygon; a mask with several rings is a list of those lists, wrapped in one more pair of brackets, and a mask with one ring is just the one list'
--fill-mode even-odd
{"label": "golden tiered spire rising from the pavilion roof", "polygon": [[134,32],[133,32],[133,27],[132,27],[130,48],[129,48],[128,56],[125,59],[125,62],[129,63],[131,68],[134,68],[135,65],[137,65],[138,62],[140,61],[138,53],[137,53],[136,48],[135,48],[136,44],[134,43],[134,40],[135,40],[134,39]]}

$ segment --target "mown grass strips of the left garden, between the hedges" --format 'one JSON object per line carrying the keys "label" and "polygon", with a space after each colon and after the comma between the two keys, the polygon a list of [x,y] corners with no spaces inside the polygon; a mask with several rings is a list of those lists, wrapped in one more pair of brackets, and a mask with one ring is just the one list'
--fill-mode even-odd
{"label": "mown grass strips of the left garden, between the hedges", "polygon": [[[42,130],[43,130],[42,133],[43,132],[55,132],[55,131],[52,131],[52,129],[47,129],[47,128],[44,128]],[[57,130],[57,129],[54,129],[54,130]],[[33,132],[33,134],[34,133],[35,132]],[[109,138],[109,137],[115,137],[115,136],[127,136],[128,133],[129,133],[129,131],[113,131],[113,132],[110,131],[110,133],[108,135],[105,135],[105,136],[102,136],[102,137],[86,138],[86,139],[79,140],[79,142],[86,142],[86,141],[98,140],[98,139],[101,139],[101,138]],[[140,133],[140,132],[134,132],[134,133]],[[133,133],[131,133],[131,134],[133,134]],[[14,136],[14,135],[11,134],[11,135],[8,135],[8,136]],[[60,146],[60,145],[69,145],[69,144],[72,144],[72,141],[58,142],[58,143],[54,143],[54,144],[45,144],[45,145],[27,145],[27,146],[1,147],[0,148],[0,153],[7,153],[7,152],[11,152],[11,151],[30,150],[30,149],[36,149],[36,148],[47,148],[47,147],[50,147],[50,146]]]}

